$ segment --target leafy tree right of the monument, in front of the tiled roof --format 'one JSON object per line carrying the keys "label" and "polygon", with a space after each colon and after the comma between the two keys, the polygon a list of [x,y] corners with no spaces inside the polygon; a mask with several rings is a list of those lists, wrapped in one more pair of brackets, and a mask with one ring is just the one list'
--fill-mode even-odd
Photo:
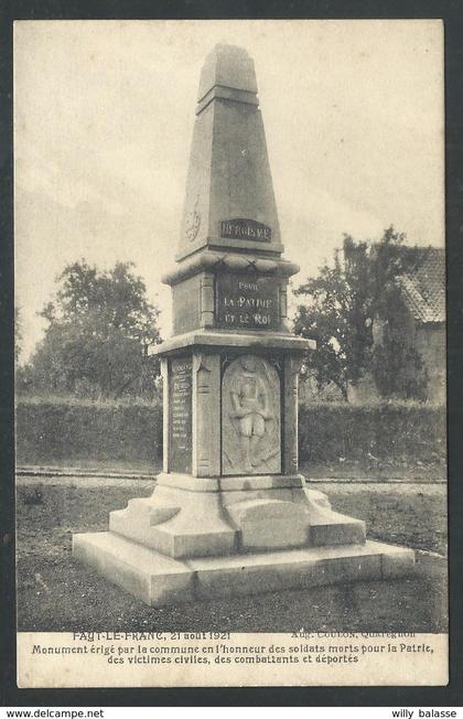
{"label": "leafy tree right of the monument, in front of the tiled roof", "polygon": [[[294,331],[317,342],[306,357],[319,388],[334,383],[347,399],[347,387],[370,372],[383,396],[419,397],[426,384],[421,360],[397,331],[400,312],[398,277],[418,259],[417,248],[403,246],[394,227],[378,243],[356,243],[344,235],[343,260],[335,250],[332,266],[295,294],[305,303],[297,309]],[[426,251],[426,250],[424,250]],[[381,326],[374,343],[374,328]]]}

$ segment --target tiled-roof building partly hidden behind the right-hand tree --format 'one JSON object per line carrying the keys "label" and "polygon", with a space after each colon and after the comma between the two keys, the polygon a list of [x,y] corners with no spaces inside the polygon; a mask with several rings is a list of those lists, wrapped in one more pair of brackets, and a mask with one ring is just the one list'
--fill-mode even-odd
{"label": "tiled-roof building partly hidden behind the right-hand tree", "polygon": [[[419,354],[428,376],[426,397],[432,403],[445,401],[445,253],[430,247],[403,248],[417,257],[416,265],[398,279],[402,311],[394,321],[398,333]],[[389,326],[389,332],[391,328]],[[373,325],[374,344],[383,340],[384,324]],[[349,401],[367,401],[378,397],[372,377],[364,377],[348,387]]]}

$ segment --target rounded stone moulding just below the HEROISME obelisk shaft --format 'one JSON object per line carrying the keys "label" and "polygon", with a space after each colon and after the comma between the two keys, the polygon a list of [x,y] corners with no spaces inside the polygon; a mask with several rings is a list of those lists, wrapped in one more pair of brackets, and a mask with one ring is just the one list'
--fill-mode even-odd
{"label": "rounded stone moulding just below the HEROISME obelisk shaft", "polygon": [[207,249],[177,262],[161,279],[164,285],[172,286],[201,271],[215,272],[222,270],[256,271],[262,275],[288,278],[299,272],[299,265],[295,262],[279,257],[273,259]]}

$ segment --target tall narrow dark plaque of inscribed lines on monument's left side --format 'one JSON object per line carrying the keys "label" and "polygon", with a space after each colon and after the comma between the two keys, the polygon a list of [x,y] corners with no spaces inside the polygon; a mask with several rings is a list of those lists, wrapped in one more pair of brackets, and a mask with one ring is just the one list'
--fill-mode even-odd
{"label": "tall narrow dark plaque of inscribed lines on monument's left side", "polygon": [[192,361],[171,360],[169,377],[169,468],[192,471]]}

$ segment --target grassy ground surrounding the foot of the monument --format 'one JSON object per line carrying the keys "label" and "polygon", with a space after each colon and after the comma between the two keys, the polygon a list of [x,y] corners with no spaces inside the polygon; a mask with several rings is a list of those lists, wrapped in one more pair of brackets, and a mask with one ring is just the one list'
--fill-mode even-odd
{"label": "grassy ground surrounding the foot of the monument", "polygon": [[[30,504],[35,487],[41,496]],[[132,480],[20,481],[20,631],[445,631],[446,587],[435,577],[149,608],[76,562],[71,547],[73,533],[107,529],[111,509],[152,489],[152,482]],[[316,489],[329,494],[334,509],[365,519],[370,538],[445,551],[444,485]]]}

